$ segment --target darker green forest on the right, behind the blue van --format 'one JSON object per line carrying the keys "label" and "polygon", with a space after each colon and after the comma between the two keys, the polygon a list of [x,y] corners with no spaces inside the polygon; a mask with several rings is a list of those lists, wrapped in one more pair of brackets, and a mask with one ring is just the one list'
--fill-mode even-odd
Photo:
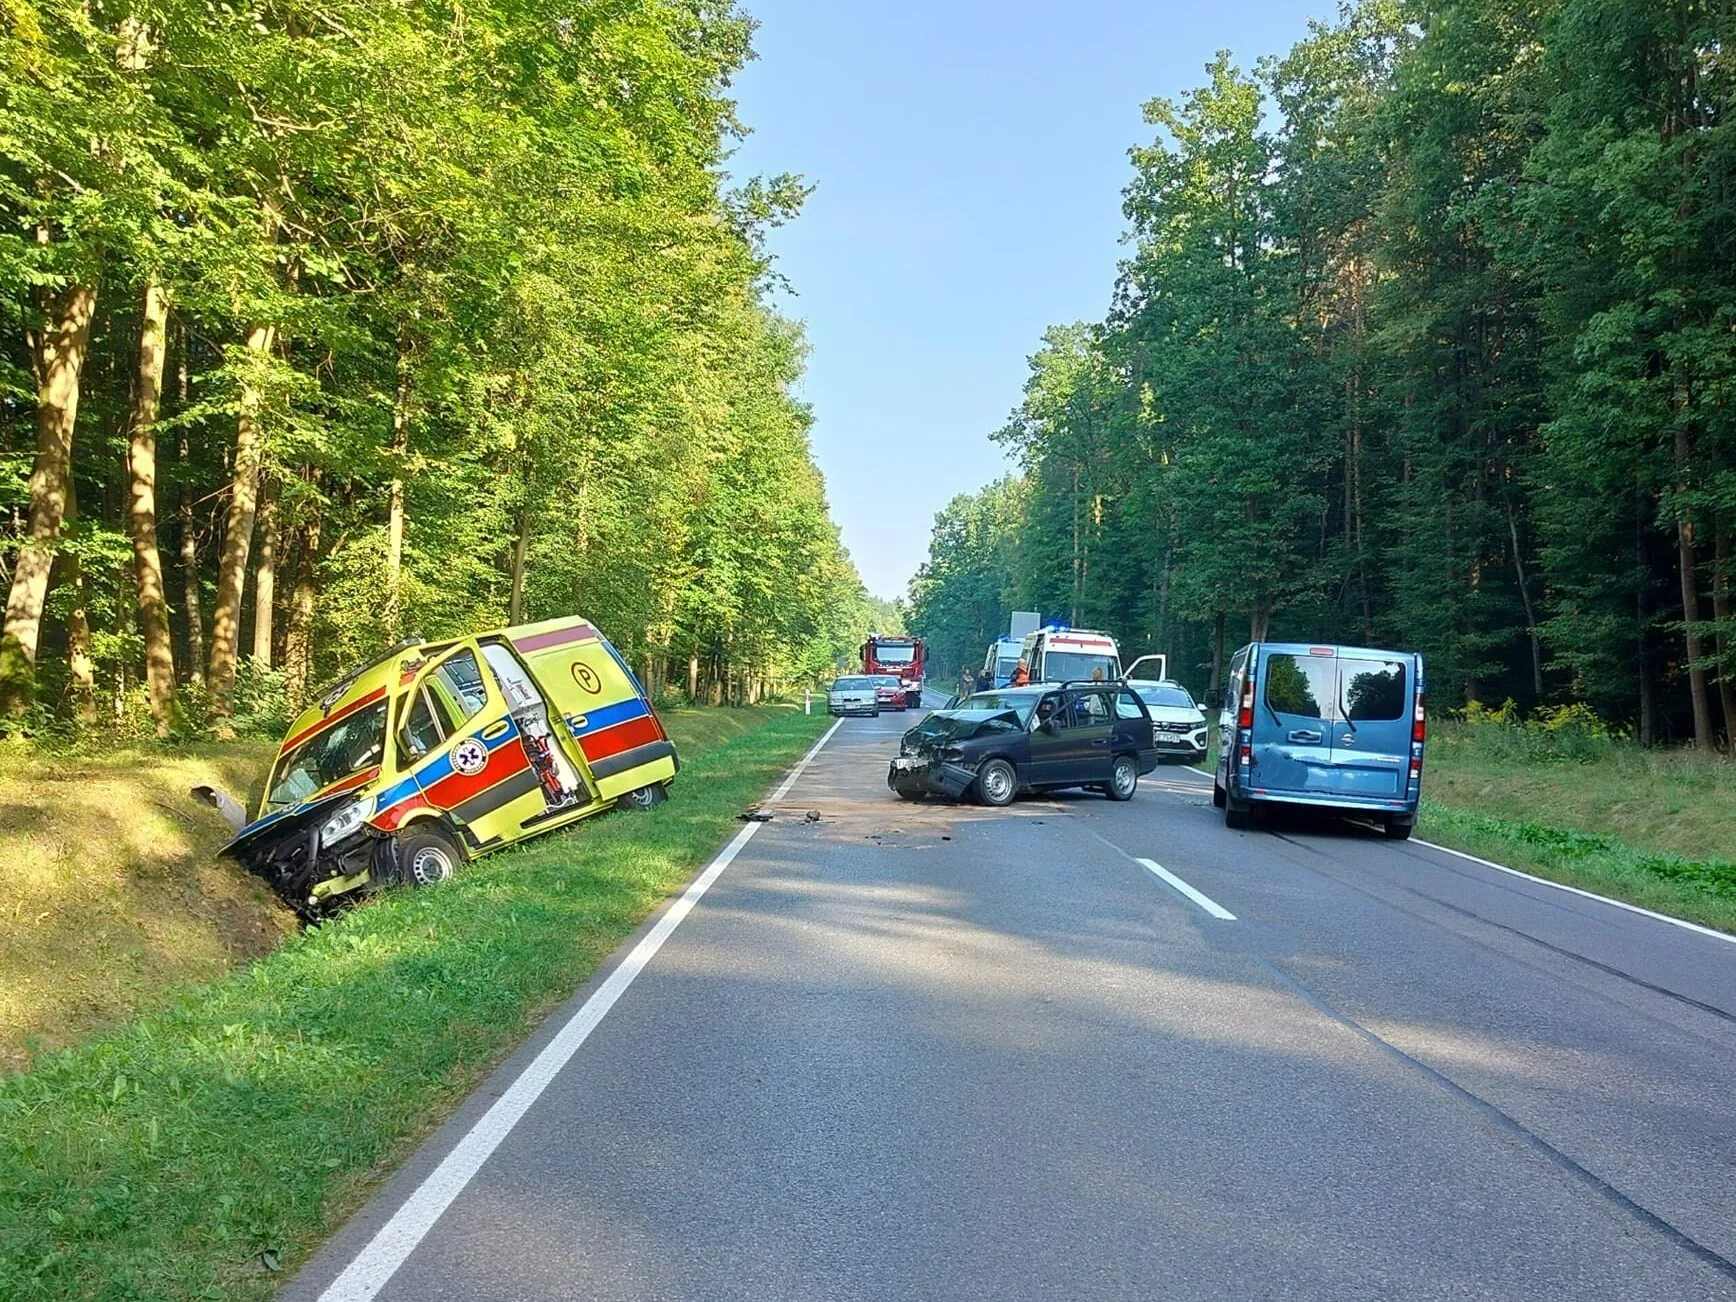
{"label": "darker green forest on the right, behind the blue van", "polygon": [[1404,646],[1437,707],[1736,733],[1722,0],[1361,0],[1146,104],[1104,319],[1055,326],[911,583],[1167,651]]}

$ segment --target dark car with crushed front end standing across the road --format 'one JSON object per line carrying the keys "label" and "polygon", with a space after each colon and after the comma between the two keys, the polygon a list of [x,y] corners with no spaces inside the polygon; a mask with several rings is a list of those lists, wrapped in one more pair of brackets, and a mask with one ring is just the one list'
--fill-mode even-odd
{"label": "dark car with crushed front end standing across the road", "polygon": [[906,800],[974,795],[990,806],[1068,786],[1128,800],[1156,766],[1151,715],[1128,687],[1007,687],[904,733],[887,786]]}

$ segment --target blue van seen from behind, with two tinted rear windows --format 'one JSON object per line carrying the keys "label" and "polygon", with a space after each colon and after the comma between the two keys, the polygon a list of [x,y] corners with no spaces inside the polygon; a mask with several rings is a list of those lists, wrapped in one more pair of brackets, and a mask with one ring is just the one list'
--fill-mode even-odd
{"label": "blue van seen from behind, with two tinted rear windows", "polygon": [[1266,804],[1373,814],[1394,840],[1417,826],[1422,656],[1359,646],[1253,642],[1229,661],[1212,804],[1246,828]]}

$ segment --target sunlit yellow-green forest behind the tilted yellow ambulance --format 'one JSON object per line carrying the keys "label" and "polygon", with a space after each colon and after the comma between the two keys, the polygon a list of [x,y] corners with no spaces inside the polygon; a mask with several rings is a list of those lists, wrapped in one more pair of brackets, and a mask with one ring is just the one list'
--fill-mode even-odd
{"label": "sunlit yellow-green forest behind the tilted yellow ambulance", "polygon": [[653,693],[866,594],[736,187],[720,0],[0,0],[0,729],[267,729],[582,611]]}

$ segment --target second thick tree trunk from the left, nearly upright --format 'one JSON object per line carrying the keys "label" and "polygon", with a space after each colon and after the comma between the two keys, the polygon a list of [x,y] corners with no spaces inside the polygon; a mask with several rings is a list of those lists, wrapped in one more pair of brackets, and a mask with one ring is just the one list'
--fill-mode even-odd
{"label": "second thick tree trunk from the left, nearly upright", "polygon": [[139,323],[139,378],[132,396],[132,436],[127,444],[127,523],[132,568],[139,585],[139,634],[144,637],[144,682],[158,736],[175,724],[175,648],[168,635],[163,557],[156,549],[156,408],[163,396],[168,349],[168,293],[155,279],[144,286]]}

